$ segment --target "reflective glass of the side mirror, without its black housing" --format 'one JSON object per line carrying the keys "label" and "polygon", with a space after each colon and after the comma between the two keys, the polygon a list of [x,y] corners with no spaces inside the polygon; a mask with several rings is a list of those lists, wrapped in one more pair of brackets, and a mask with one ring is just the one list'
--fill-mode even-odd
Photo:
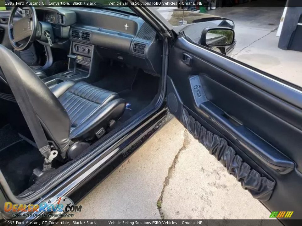
{"label": "reflective glass of the side mirror, without its black housing", "polygon": [[206,35],[206,44],[210,46],[228,46],[234,39],[232,30],[214,29],[209,30]]}

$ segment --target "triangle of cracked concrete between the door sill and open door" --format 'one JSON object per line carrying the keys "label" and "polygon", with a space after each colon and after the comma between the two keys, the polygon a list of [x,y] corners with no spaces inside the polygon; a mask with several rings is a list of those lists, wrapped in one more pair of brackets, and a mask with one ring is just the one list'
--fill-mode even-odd
{"label": "triangle of cracked concrete between the door sill and open door", "polygon": [[79,205],[82,211],[74,219],[264,219],[270,215],[175,118]]}

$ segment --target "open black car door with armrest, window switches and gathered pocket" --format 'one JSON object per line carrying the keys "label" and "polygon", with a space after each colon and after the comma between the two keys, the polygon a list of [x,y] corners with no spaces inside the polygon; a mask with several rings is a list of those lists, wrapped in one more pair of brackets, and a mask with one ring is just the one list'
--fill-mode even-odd
{"label": "open black car door with armrest, window switches and gathered pocket", "polygon": [[300,87],[182,33],[169,53],[166,95],[171,113],[193,137],[274,212],[268,218],[301,218]]}

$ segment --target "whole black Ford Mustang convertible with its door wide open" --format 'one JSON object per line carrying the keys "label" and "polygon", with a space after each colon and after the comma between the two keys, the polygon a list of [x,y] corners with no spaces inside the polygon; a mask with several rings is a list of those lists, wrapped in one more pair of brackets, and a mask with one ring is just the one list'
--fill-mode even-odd
{"label": "whole black Ford Mustang convertible with its door wide open", "polygon": [[173,116],[268,209],[301,216],[302,90],[226,56],[232,21],[174,27],[148,7],[6,15],[3,218],[5,202],[76,203]]}

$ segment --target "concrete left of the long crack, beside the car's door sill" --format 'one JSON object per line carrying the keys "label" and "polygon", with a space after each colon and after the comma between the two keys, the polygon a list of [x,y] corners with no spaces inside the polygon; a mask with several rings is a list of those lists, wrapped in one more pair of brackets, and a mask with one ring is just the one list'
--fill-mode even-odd
{"label": "concrete left of the long crack, beside the car's door sill", "polygon": [[173,119],[89,193],[76,219],[161,219],[157,200],[184,127]]}

